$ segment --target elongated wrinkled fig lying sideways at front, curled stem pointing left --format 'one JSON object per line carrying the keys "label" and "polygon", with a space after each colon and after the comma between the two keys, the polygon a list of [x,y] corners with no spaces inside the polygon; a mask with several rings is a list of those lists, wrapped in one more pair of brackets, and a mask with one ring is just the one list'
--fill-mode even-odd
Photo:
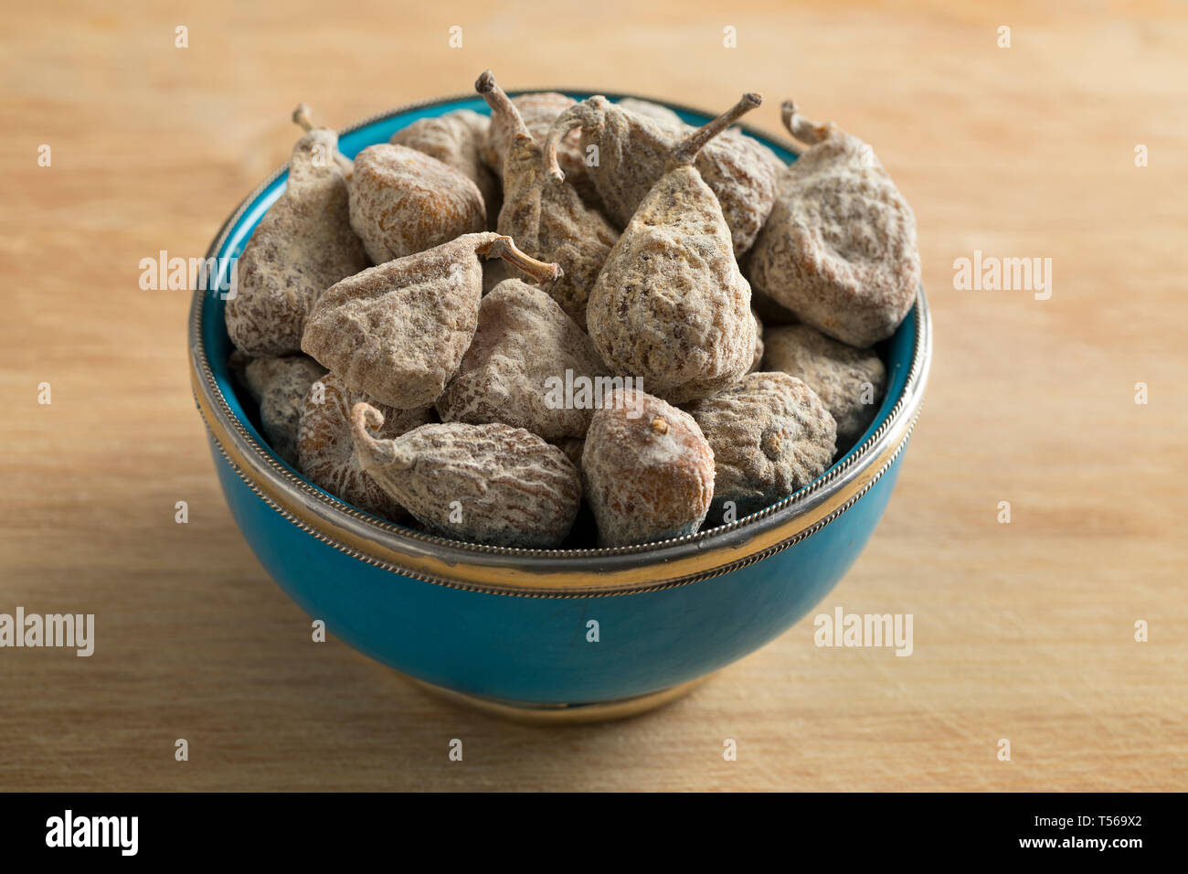
{"label": "elongated wrinkled fig lying sideways at front, curled stem pointing left", "polygon": [[360,463],[422,524],[488,546],[548,549],[569,534],[581,478],[556,446],[499,422],[425,425],[377,440],[383,421],[367,404],[353,413]]}

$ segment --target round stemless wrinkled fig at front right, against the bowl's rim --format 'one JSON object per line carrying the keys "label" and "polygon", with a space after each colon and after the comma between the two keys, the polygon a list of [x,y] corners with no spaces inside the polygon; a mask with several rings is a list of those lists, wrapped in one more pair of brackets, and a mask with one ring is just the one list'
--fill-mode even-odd
{"label": "round stemless wrinkled fig at front right, against the bowl's rim", "polygon": [[689,404],[688,411],[714,451],[714,505],[707,524],[782,501],[833,461],[833,416],[808,385],[788,373],[747,373]]}

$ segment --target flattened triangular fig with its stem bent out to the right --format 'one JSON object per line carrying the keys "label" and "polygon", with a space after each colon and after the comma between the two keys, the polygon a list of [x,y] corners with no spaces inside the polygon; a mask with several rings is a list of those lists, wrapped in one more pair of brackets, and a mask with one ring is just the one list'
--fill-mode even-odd
{"label": "flattened triangular fig with its stem bent out to the right", "polygon": [[479,253],[504,258],[542,282],[561,272],[529,258],[507,237],[465,234],[328,289],[307,321],[302,347],[347,385],[390,407],[434,403],[479,325]]}

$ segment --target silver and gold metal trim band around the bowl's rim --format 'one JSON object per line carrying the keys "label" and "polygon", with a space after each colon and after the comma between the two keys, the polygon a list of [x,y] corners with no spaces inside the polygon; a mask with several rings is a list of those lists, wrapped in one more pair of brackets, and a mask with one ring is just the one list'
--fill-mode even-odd
{"label": "silver and gold metal trim band around the bowl's rim", "polygon": [[[342,134],[470,96],[410,103],[352,125]],[[208,258],[219,253],[245,209],[286,168],[272,174],[223,222]],[[614,549],[510,549],[446,540],[385,522],[329,496],[282,465],[232,414],[215,383],[202,342],[208,295],[196,289],[190,309],[195,402],[215,446],[253,492],[302,530],[367,564],[436,585],[523,597],[600,597],[685,585],[753,564],[810,536],[852,507],[898,458],[920,415],[931,360],[931,317],[920,289],[911,365],[899,400],[857,451],[796,495],[731,524],[659,543]]]}

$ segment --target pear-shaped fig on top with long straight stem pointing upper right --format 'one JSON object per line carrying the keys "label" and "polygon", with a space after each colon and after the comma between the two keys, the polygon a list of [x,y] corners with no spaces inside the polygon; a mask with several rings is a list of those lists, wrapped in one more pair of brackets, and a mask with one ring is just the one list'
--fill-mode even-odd
{"label": "pear-shaped fig on top with long straight stem pointing upper right", "polygon": [[754,357],[751,288],[694,159],[759,101],[745,95],[676,145],[590,291],[587,326],[602,359],[672,403],[723,388]]}

